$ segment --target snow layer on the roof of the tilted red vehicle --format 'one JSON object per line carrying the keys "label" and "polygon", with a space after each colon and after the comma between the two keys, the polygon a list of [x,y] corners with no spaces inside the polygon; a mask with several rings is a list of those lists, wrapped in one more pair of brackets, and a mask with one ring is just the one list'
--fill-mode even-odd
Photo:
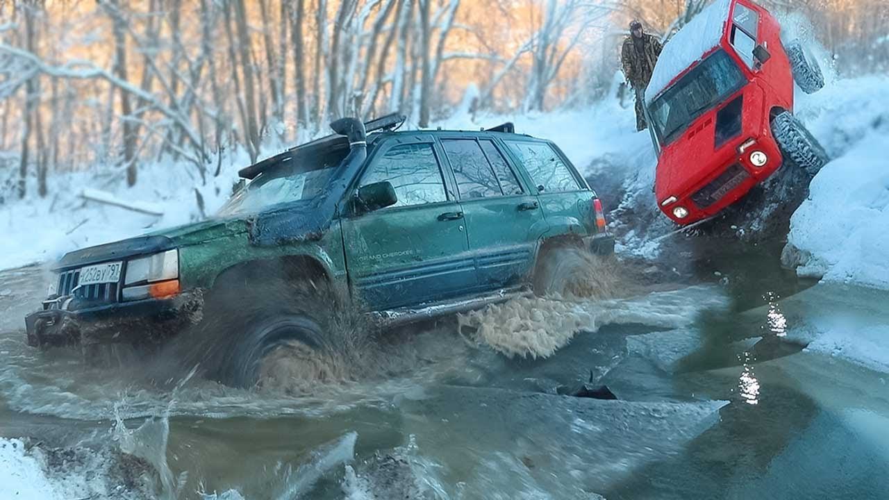
{"label": "snow layer on the roof of the tilted red vehicle", "polygon": [[645,90],[645,101],[651,102],[673,78],[719,44],[731,4],[731,0],[717,0],[709,4],[664,44]]}

